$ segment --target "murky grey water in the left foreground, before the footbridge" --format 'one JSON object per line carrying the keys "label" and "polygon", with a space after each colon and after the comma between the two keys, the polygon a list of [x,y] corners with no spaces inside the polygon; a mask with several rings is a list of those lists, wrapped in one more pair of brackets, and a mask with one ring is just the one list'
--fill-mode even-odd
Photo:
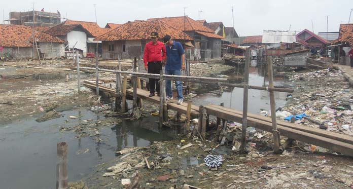
{"label": "murky grey water in the left foreground, before the footbridge", "polygon": [[[0,125],[0,188],[54,188],[56,183],[56,144],[68,144],[68,178],[76,181],[94,172],[95,165],[115,157],[125,146],[147,146],[153,141],[170,140],[177,131],[158,129],[157,117],[102,127],[98,136],[75,138],[74,131],[59,132],[82,120],[102,120],[104,116],[86,108],[63,111],[62,117],[38,123],[35,118]],[[69,116],[81,116],[69,119]],[[67,120],[67,121],[66,121]]]}

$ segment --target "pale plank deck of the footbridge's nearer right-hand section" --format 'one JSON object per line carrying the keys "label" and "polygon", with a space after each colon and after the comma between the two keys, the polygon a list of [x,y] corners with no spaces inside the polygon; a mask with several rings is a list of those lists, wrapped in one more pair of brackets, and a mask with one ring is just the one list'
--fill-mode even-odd
{"label": "pale plank deck of the footbridge's nearer right-hand section", "polygon": [[[209,115],[242,123],[242,113],[240,111],[218,105],[206,105],[204,108]],[[281,121],[278,121],[277,124],[280,135],[353,156],[353,137]],[[272,132],[271,118],[248,114],[248,126]]]}

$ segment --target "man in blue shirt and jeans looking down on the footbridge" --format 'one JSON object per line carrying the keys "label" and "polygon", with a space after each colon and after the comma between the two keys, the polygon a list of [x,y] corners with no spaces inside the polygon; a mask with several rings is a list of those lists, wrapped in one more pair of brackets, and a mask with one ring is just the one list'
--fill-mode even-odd
{"label": "man in blue shirt and jeans looking down on the footbridge", "polygon": [[[185,51],[182,44],[175,42],[170,35],[163,37],[163,43],[165,44],[167,54],[165,74],[182,75],[182,69],[185,69]],[[175,81],[175,87],[177,87],[178,90],[178,104],[181,104],[184,102],[183,83],[181,81]],[[167,100],[173,99],[170,80],[166,81],[165,90]]]}

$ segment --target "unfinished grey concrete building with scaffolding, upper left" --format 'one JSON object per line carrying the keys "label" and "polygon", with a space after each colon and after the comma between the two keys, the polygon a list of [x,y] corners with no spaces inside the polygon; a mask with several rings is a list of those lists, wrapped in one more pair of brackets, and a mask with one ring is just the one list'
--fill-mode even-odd
{"label": "unfinished grey concrete building with scaffolding, upper left", "polygon": [[10,24],[26,26],[55,26],[61,22],[59,13],[44,11],[10,12]]}

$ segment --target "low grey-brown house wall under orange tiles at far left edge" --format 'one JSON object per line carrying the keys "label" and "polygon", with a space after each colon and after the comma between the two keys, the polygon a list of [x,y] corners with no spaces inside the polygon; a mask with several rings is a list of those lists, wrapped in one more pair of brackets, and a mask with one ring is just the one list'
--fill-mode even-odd
{"label": "low grey-brown house wall under orange tiles at far left edge", "polygon": [[[33,54],[33,47],[4,47],[3,52],[0,52],[0,56],[5,56],[9,54],[13,59],[30,59]],[[38,58],[37,52],[34,53],[34,58]]]}

